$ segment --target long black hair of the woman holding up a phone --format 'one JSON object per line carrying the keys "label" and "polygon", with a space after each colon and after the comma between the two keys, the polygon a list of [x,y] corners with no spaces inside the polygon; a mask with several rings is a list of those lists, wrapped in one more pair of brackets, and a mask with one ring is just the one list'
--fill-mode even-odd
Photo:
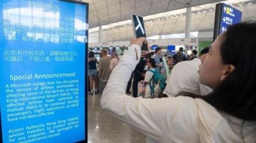
{"label": "long black hair of the woman holding up a phone", "polygon": [[244,121],[256,121],[256,22],[242,22],[228,27],[221,43],[223,64],[236,68],[207,96],[201,98],[218,110]]}

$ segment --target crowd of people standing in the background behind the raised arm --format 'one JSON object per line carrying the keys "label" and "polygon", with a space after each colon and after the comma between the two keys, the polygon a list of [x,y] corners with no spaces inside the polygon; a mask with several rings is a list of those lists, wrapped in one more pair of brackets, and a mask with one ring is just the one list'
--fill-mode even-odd
{"label": "crowd of people standing in the background behind the raised arm", "polygon": [[[193,50],[191,55],[185,56],[184,49],[180,47],[177,54],[170,56],[163,55],[162,49],[158,47],[155,52],[150,52],[145,56],[141,56],[140,62],[131,74],[131,78],[127,83],[126,93],[131,94],[133,97],[142,96],[143,98],[156,98],[163,90],[155,94],[154,89],[157,88],[157,83],[154,82],[154,77],[163,75],[166,80],[169,73],[172,71],[173,66],[181,61],[189,61],[196,58],[197,51]],[[163,58],[164,57],[164,58]],[[104,49],[100,52],[100,59],[97,61],[95,52],[90,51],[88,54],[88,77],[89,77],[89,92],[90,94],[97,94],[102,92],[106,86],[111,72],[118,64],[120,57],[116,49],[110,51]],[[164,61],[165,64],[164,64]],[[168,70],[166,69],[168,68]],[[167,72],[167,76],[166,76]],[[156,79],[156,78],[155,78]],[[157,80],[157,79],[156,79]],[[162,84],[165,84],[165,81]],[[166,83],[168,81],[166,80]],[[132,87],[132,88],[131,88]],[[131,92],[132,91],[132,92]],[[161,97],[161,96],[159,96]]]}

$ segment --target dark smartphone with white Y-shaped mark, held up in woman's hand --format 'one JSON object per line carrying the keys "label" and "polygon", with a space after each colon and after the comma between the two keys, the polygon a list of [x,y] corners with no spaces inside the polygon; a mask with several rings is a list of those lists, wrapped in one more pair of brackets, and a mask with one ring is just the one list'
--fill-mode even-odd
{"label": "dark smartphone with white Y-shaped mark, held up in woman's hand", "polygon": [[[140,17],[138,15],[132,15],[132,27],[136,38],[147,37],[143,17]],[[141,50],[148,51],[148,45],[143,44]]]}

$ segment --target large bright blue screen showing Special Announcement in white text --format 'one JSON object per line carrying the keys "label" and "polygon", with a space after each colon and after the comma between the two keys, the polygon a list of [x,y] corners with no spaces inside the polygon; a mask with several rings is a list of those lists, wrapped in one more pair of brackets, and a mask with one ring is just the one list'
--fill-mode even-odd
{"label": "large bright blue screen showing Special Announcement in white text", "polygon": [[86,3],[0,1],[2,142],[86,140],[87,41]]}

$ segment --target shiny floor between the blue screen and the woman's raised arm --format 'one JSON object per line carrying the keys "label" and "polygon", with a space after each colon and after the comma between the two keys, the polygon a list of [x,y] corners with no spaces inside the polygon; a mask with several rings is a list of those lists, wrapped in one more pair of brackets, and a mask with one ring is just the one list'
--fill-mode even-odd
{"label": "shiny floor between the blue screen and the woman's raised arm", "polygon": [[88,94],[88,143],[144,143],[145,135],[100,107],[100,94]]}

